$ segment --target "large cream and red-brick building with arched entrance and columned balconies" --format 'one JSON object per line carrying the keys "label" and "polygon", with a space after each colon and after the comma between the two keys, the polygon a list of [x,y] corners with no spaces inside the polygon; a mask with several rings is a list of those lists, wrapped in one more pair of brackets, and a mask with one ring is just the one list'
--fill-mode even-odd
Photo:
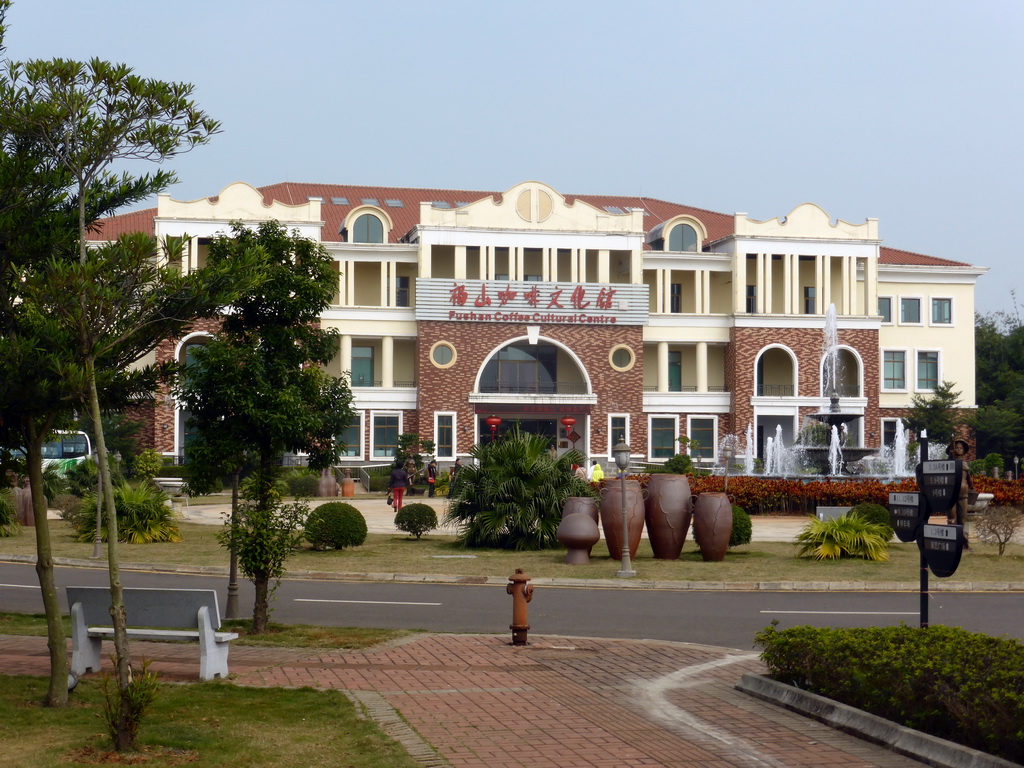
{"label": "large cream and red-brick building with arched entrance and columned balconies", "polygon": [[[351,464],[386,461],[417,432],[443,465],[513,424],[601,460],[622,438],[637,463],[670,458],[680,436],[717,461],[721,438],[748,425],[759,454],[778,426],[788,444],[828,407],[830,304],[838,394],[863,417],[852,439],[891,440],[911,397],[942,381],[975,401],[985,268],[884,247],[877,220],[833,220],[812,204],[759,221],[535,181],[503,193],[233,183],[190,202],[162,195],[94,237],[184,237],[189,269],[229,222],[267,219],[334,256],[322,323],[340,333],[329,371],[350,377],[358,413],[342,435]],[[211,328],[150,359],[186,362]],[[186,423],[158,398],[144,442],[180,454]]]}

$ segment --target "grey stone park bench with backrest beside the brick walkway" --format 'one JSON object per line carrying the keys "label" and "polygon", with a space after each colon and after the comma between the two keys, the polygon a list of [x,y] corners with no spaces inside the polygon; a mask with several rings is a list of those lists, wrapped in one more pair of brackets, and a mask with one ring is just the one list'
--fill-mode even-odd
{"label": "grey stone park bench with backrest beside the brick walkway", "polygon": [[[238,638],[220,629],[217,593],[213,590],[124,590],[128,636],[137,640],[199,642],[199,676],[227,677],[227,648]],[[111,591],[106,587],[68,587],[71,606],[72,672],[99,671],[103,638],[113,639]]]}

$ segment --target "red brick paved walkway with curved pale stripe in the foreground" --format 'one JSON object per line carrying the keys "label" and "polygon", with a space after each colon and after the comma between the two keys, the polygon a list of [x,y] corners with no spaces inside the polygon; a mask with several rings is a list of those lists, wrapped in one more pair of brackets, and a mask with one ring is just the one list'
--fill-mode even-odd
{"label": "red brick paved walkway with curved pale stripe in the foreground", "polygon": [[[426,766],[920,766],[733,688],[753,653],[684,643],[416,636],[368,651],[234,646],[240,685],[344,690]],[[132,644],[196,680],[195,645]],[[104,651],[106,650],[104,645]],[[109,660],[104,659],[104,664]],[[47,673],[46,641],[0,636],[0,669]]]}

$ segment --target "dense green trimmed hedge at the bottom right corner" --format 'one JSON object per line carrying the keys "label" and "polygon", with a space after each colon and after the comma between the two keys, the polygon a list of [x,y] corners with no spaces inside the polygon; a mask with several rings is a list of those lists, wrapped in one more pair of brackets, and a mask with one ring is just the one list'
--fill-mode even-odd
{"label": "dense green trimmed hedge at the bottom right corner", "polygon": [[771,626],[775,680],[1006,760],[1024,761],[1024,644],[956,627]]}

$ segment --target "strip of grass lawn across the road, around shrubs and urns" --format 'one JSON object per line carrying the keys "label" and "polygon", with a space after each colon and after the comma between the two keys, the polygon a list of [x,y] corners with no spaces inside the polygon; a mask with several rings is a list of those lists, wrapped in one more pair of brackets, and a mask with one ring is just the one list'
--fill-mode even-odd
{"label": "strip of grass lawn across the road, around shrubs and urns", "polygon": [[[91,543],[74,541],[69,524],[50,521],[55,557],[88,559]],[[182,523],[183,542],[177,544],[122,544],[121,561],[170,565],[227,565],[227,553],[218,544],[216,525]],[[0,539],[0,553],[35,554],[31,528]],[[817,562],[797,558],[797,548],[783,542],[758,542],[729,550],[723,562],[706,563],[687,540],[677,561],[654,560],[646,540],[641,542],[634,566],[641,580],[680,582],[906,582],[916,583],[920,559],[916,545],[895,543],[888,562],[843,559]],[[943,582],[1024,582],[1024,546],[1010,545],[999,557],[995,545],[975,542],[965,553],[956,574]],[[604,542],[594,547],[589,565],[567,565],[564,550],[507,552],[465,549],[453,537],[428,535],[417,541],[401,534],[371,534],[353,549],[315,552],[296,550],[287,566],[292,572],[327,573],[430,573],[438,575],[495,577],[506,579],[522,568],[538,578],[615,579],[618,563],[608,557]],[[100,561],[102,562],[102,561]],[[938,581],[938,580],[935,580]]]}

